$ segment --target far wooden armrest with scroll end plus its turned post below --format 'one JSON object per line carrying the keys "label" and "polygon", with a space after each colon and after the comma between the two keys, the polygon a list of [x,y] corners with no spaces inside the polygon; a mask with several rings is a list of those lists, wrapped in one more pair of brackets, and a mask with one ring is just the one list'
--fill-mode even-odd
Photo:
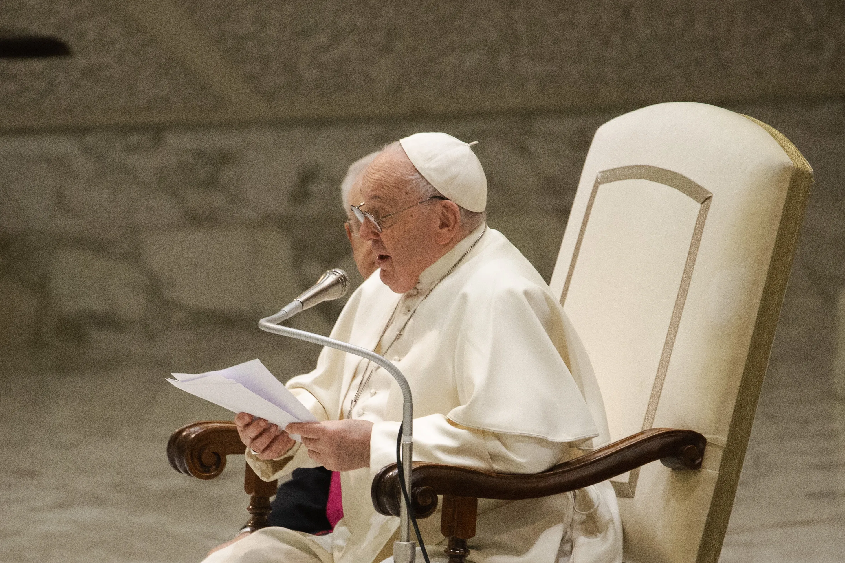
{"label": "far wooden armrest with scroll end plus its turned post below", "polygon": [[[173,432],[167,441],[167,461],[179,473],[197,479],[214,479],[226,468],[226,456],[243,455],[246,451],[234,422],[209,420],[192,422]],[[276,481],[259,479],[247,464],[243,490],[249,495],[246,527],[254,532],[265,528],[270,515],[270,497],[275,495]]]}

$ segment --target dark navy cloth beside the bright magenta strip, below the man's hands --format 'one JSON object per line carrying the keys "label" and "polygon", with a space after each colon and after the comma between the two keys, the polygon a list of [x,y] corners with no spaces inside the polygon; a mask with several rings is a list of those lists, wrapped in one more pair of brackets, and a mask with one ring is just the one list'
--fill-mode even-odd
{"label": "dark navy cloth beside the bright magenta strip, below the man's hands", "polygon": [[320,533],[331,530],[325,506],[329,501],[331,472],[326,468],[298,468],[279,487],[270,502],[270,526],[297,532]]}

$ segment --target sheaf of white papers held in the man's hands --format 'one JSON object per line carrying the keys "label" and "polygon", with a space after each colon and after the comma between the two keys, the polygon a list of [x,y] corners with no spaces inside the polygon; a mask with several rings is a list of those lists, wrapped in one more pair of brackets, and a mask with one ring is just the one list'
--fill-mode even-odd
{"label": "sheaf of white papers held in the man's hands", "polygon": [[[292,422],[317,422],[314,415],[281,384],[261,360],[200,374],[172,373],[174,386],[233,413],[249,413],[284,429]],[[299,436],[291,436],[299,440]]]}

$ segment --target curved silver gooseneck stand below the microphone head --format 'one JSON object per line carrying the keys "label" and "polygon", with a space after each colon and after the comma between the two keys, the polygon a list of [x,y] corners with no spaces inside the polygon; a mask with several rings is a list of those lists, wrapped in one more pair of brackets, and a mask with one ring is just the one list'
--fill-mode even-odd
{"label": "curved silver gooseneck stand below the microphone head", "polygon": [[[300,309],[301,310],[301,309]],[[298,311],[297,311],[298,312]],[[294,313],[296,314],[296,313]],[[281,334],[290,338],[297,338],[310,342],[312,344],[320,344],[366,358],[376,365],[383,367],[399,384],[402,391],[402,473],[405,476],[405,483],[407,493],[411,495],[411,470],[413,468],[412,453],[413,453],[413,438],[412,438],[412,424],[414,419],[414,406],[411,396],[411,386],[408,385],[405,376],[399,371],[395,365],[389,360],[385,360],[382,356],[376,354],[372,350],[361,348],[354,344],[349,344],[334,338],[328,338],[320,334],[308,333],[297,328],[283,327],[277,322],[284,321],[286,318],[292,317],[289,311],[282,309],[275,315],[265,317],[259,321],[259,328],[268,333]],[[417,544],[412,540],[412,522],[411,515],[408,512],[407,502],[401,499],[400,503],[400,539],[393,544],[393,560],[395,563],[413,563],[417,556]]]}

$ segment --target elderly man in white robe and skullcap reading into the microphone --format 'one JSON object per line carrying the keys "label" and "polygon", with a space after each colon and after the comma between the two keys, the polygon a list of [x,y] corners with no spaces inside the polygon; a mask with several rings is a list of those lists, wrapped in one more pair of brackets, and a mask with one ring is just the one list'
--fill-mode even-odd
{"label": "elderly man in white robe and skullcap reading into the microphone", "polygon": [[[547,284],[485,224],[487,181],[471,145],[417,133],[388,145],[364,173],[359,236],[379,275],[361,285],[332,330],[405,374],[414,397],[414,459],[532,474],[607,441],[586,351]],[[241,413],[247,461],[262,479],[303,466],[341,472],[344,517],[312,536],[264,528],[217,551],[222,561],[385,560],[399,526],[375,512],[373,476],[395,462],[401,392],[376,365],[323,349],[287,387],[319,420],[280,429]],[[302,436],[295,442],[288,432]],[[439,514],[420,521],[444,560]],[[619,563],[622,530],[608,483],[575,494],[478,503],[477,563]]]}

